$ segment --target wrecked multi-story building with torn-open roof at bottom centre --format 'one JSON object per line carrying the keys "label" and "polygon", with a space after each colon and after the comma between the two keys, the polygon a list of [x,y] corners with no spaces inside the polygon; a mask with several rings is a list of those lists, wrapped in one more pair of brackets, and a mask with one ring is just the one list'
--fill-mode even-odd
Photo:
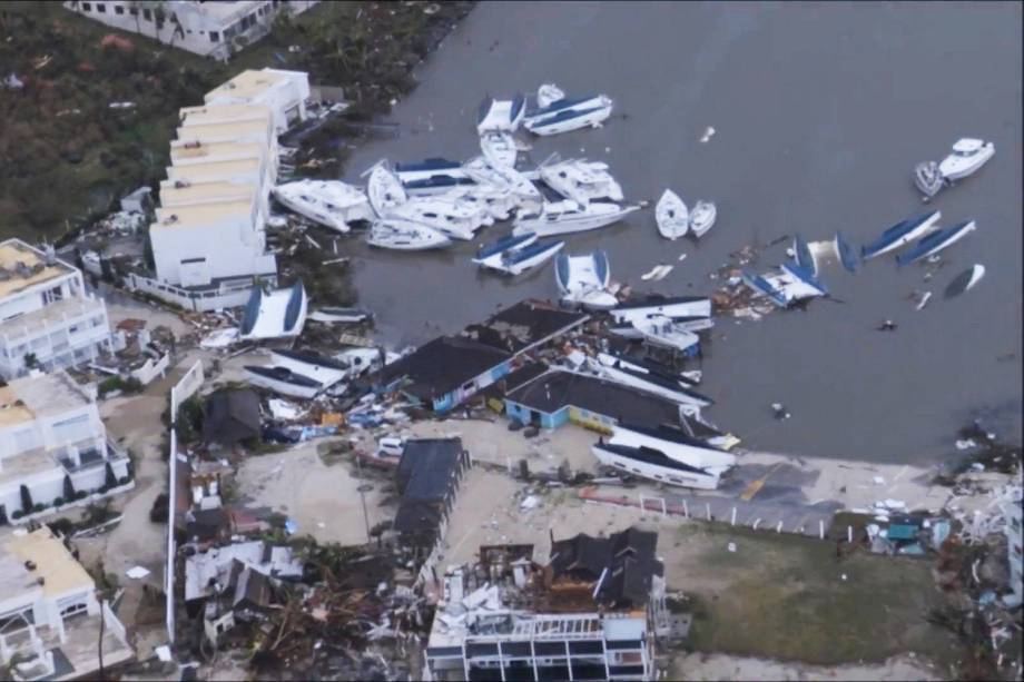
{"label": "wrecked multi-story building with torn-open roof at bottom centre", "polygon": [[532,547],[482,547],[474,566],[450,569],[426,659],[435,680],[652,680],[654,634],[666,622],[658,535]]}

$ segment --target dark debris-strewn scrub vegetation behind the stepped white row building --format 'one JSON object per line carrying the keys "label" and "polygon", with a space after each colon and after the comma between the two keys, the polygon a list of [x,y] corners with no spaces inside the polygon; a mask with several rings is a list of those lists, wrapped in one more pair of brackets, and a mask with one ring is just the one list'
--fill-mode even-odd
{"label": "dark debris-strewn scrub vegetation behind the stepped white row building", "polygon": [[[59,2],[6,2],[0,72],[13,72],[24,87],[0,97],[0,236],[59,239],[136,187],[156,186],[177,110],[201,103],[204,92],[248,68],[306,70],[311,82],[343,87],[357,102],[354,117],[385,111],[414,87],[412,67],[471,7],[322,2],[279,17],[270,36],[221,65]],[[132,47],[104,47],[111,33]],[[109,107],[128,101],[135,106]]]}

